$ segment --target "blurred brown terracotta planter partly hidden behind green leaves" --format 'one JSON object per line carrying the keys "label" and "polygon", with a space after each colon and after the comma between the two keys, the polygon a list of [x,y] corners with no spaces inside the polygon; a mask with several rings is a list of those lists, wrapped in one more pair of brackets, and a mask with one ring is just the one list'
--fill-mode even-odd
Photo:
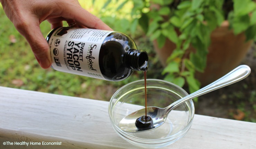
{"label": "blurred brown terracotta planter partly hidden behind green leaves", "polygon": [[[211,44],[208,48],[209,53],[205,71],[204,73],[196,72],[195,74],[202,86],[208,85],[237,67],[252,45],[252,40],[245,42],[243,33],[235,36],[232,30],[228,29],[228,25],[227,21],[223,22],[221,27],[211,34]],[[164,47],[159,49],[157,42],[154,41],[153,43],[161,64],[166,66],[166,59],[175,49],[175,44],[170,40],[166,40]]]}

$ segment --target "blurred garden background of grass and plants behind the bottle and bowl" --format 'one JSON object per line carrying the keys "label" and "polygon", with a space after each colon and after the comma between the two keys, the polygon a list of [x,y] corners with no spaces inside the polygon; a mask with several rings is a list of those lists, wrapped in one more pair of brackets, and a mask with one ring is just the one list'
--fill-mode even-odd
{"label": "blurred garden background of grass and plants behind the bottle and bowl", "polygon": [[[135,40],[138,49],[148,53],[147,78],[164,79],[180,85],[187,92],[194,92],[240,64],[249,65],[252,73],[245,80],[194,99],[195,112],[213,117],[256,122],[254,1],[245,0],[243,1],[245,4],[239,4],[235,0],[234,2],[232,0],[219,2],[79,0],[79,2],[83,8],[101,18],[113,30],[128,34]],[[244,9],[248,8],[246,4],[252,8]],[[134,72],[124,81],[109,82],[57,72],[51,68],[42,69],[27,41],[15,29],[2,8],[0,20],[0,86],[109,101],[121,86],[143,79],[143,72]],[[225,25],[223,23],[225,20],[229,21],[228,27],[221,29],[220,27]],[[51,30],[47,21],[42,22],[40,27],[44,36]],[[220,30],[220,33],[213,34],[216,29]],[[232,34],[232,37],[224,35],[224,32]],[[211,40],[217,38],[219,34],[222,36],[219,39],[220,43]],[[235,45],[240,42],[236,37],[242,38],[241,46]],[[225,38],[231,38],[232,41],[225,44],[223,43]],[[227,49],[227,45],[233,46],[231,52],[220,53]],[[171,50],[173,46],[174,50]],[[235,47],[238,47],[237,51]],[[240,54],[238,52],[242,51],[242,47],[245,50]],[[166,49],[171,53],[167,54]],[[192,53],[189,53],[191,51]],[[217,58],[209,57],[211,51],[217,52],[212,54],[217,55]],[[238,56],[234,53],[238,53]],[[231,61],[235,59],[238,61],[234,64],[230,61],[228,64],[220,61],[223,59],[227,61],[229,55]],[[214,62],[213,59],[219,62]],[[213,74],[217,70],[222,72]]]}

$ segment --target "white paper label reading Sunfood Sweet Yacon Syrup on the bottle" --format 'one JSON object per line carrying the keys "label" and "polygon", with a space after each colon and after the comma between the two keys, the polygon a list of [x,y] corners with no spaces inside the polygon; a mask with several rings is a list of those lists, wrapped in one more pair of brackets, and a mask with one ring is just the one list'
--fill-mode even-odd
{"label": "white paper label reading Sunfood Sweet Yacon Syrup on the bottle", "polygon": [[61,27],[53,32],[49,47],[57,71],[106,80],[99,67],[103,40],[112,31]]}

